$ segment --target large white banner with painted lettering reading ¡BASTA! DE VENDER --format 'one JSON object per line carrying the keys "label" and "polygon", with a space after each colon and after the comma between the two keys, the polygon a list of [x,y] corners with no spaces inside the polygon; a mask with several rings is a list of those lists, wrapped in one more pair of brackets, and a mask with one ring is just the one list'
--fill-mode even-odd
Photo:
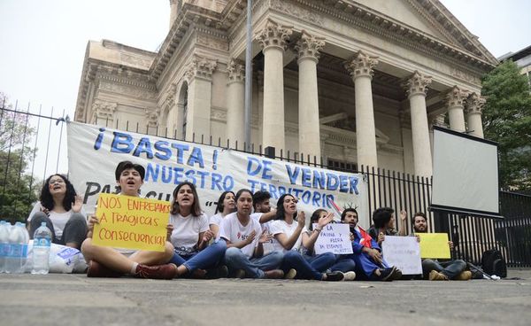
{"label": "large white banner with painted lettering reading \u00a1BASTA! DE VENDER", "polygon": [[307,215],[318,208],[330,209],[327,198],[331,197],[339,206],[358,206],[360,219],[368,225],[367,183],[361,174],[306,167],[240,151],[79,122],[68,123],[69,177],[75,190],[84,194],[87,212],[94,212],[100,192],[116,192],[114,170],[122,160],[145,167],[142,197],[170,201],[180,182],[193,182],[200,205],[208,215],[214,213],[221,192],[247,188],[252,192],[269,191],[273,206],[283,193],[291,193],[299,198],[297,208]]}

